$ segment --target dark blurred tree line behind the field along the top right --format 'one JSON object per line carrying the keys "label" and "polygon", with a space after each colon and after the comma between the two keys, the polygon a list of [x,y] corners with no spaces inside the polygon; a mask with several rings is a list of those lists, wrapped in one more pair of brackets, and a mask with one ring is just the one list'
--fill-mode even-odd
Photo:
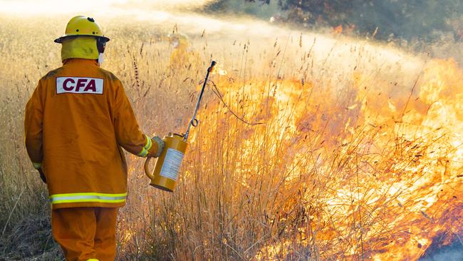
{"label": "dark blurred tree line behind the field along the top right", "polygon": [[[308,28],[338,27],[344,32],[375,34],[383,40],[463,39],[462,0],[220,0],[215,6],[225,10],[238,6],[238,2],[256,4],[260,9],[279,6],[270,14],[275,22],[293,22]],[[247,13],[256,13],[256,8],[252,10]]]}

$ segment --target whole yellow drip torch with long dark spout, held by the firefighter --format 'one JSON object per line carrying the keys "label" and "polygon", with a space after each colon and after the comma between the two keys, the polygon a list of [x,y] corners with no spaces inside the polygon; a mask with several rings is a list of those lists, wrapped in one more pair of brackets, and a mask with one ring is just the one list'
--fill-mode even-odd
{"label": "whole yellow drip torch with long dark spout, held by the firefighter", "polygon": [[175,189],[175,185],[177,185],[180,166],[182,165],[184,153],[188,146],[189,130],[192,126],[196,127],[198,125],[196,116],[202,101],[204,88],[206,88],[207,78],[209,78],[209,73],[212,72],[215,65],[216,62],[212,61],[211,66],[207,68],[206,77],[204,78],[204,83],[202,83],[201,92],[199,93],[196,108],[194,108],[193,117],[188,123],[187,131],[184,134],[169,133],[169,135],[162,139],[165,142],[165,148],[157,158],[154,170],[150,171],[149,163],[151,157],[145,160],[145,174],[151,180],[150,185],[155,188],[172,192]]}

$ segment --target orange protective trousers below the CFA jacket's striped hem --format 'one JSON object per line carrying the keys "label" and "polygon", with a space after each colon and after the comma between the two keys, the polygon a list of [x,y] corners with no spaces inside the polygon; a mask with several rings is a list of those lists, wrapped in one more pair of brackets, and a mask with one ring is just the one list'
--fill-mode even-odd
{"label": "orange protective trousers below the CFA jacket's striped hem", "polygon": [[51,212],[53,237],[66,260],[114,260],[118,208],[60,208]]}

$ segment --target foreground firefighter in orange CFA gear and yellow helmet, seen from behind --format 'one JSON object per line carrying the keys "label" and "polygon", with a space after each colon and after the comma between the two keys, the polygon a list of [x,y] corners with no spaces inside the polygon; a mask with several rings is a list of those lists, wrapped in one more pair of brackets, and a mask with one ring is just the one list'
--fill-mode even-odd
{"label": "foreground firefighter in orange CFA gear and yellow helmet, seen from behind", "polygon": [[116,216],[128,195],[122,148],[140,157],[164,148],[140,131],[123,83],[100,68],[107,41],[94,19],[71,19],[55,40],[63,66],[38,81],[26,105],[27,153],[48,186],[51,229],[66,260],[114,260]]}

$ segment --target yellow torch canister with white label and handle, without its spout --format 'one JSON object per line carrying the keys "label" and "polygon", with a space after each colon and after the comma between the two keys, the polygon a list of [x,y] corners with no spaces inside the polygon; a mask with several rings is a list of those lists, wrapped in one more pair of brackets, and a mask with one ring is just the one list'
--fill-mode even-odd
{"label": "yellow torch canister with white label and handle, without its spout", "polygon": [[170,134],[165,136],[163,140],[165,148],[156,160],[155,169],[152,172],[149,170],[151,158],[147,158],[145,174],[151,179],[150,185],[172,192],[177,185],[180,166],[188,143],[183,140],[183,135],[179,134]]}

